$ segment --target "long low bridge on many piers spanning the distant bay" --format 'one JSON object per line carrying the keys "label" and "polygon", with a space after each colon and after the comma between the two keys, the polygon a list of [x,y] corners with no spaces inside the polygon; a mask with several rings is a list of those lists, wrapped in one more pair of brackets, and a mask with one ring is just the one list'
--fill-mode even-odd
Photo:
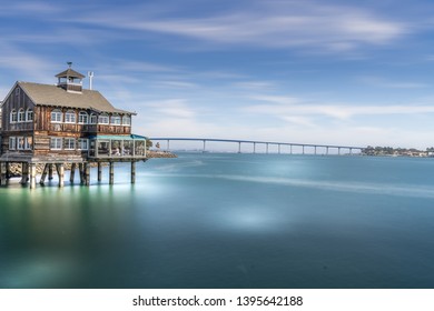
{"label": "long low bridge on many piers spanning the distant bay", "polygon": [[355,147],[355,146],[337,146],[337,144],[316,144],[316,143],[297,143],[297,142],[276,142],[276,141],[259,141],[259,140],[238,140],[238,139],[216,139],[216,138],[167,138],[167,137],[152,137],[149,138],[151,141],[162,142],[166,141],[166,150],[170,150],[170,141],[197,141],[201,142],[201,151],[207,152],[207,142],[229,142],[238,146],[238,153],[241,153],[241,144],[250,144],[253,146],[253,153],[256,153],[256,146],[265,146],[265,153],[269,152],[270,146],[277,146],[277,153],[282,153],[282,147],[289,147],[289,154],[293,154],[293,148],[298,147],[302,148],[302,154],[305,154],[305,148],[313,148],[314,154],[317,154],[318,149],[325,150],[325,154],[329,154],[329,150],[336,150],[337,154],[342,154],[343,150],[347,150],[346,154],[354,154],[355,150],[362,152],[364,147]]}

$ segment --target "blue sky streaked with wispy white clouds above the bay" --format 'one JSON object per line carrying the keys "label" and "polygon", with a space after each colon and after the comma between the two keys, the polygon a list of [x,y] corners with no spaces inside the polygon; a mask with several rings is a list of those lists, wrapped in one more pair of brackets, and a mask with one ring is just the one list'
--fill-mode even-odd
{"label": "blue sky streaked with wispy white clouds above the bay", "polygon": [[433,1],[1,6],[0,98],[72,61],[139,134],[434,146]]}

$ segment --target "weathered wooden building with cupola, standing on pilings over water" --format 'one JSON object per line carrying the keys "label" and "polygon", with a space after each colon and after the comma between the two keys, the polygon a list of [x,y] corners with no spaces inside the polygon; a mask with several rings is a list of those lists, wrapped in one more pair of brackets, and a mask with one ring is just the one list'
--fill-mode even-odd
{"label": "weathered wooden building with cupola, standing on pilings over water", "polygon": [[57,84],[16,82],[1,104],[0,184],[7,184],[10,165],[21,163],[21,183],[34,188],[37,164],[45,169],[40,178],[52,179],[57,170],[59,187],[65,183],[65,165],[71,167],[73,182],[78,169],[80,182],[89,185],[90,164],[108,163],[114,183],[114,163],[146,161],[147,138],[131,133],[136,113],[115,108],[100,92],[83,89],[83,74],[69,68]]}

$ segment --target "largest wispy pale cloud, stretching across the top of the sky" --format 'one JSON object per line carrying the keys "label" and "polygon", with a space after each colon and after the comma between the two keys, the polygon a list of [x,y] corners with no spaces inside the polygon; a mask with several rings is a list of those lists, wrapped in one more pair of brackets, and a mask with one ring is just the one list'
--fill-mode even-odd
{"label": "largest wispy pale cloud, stretching across the top of the sky", "polygon": [[134,10],[127,7],[128,14],[102,11],[76,18],[76,21],[176,34],[216,44],[316,47],[333,51],[384,44],[411,31],[404,22],[353,7],[329,6],[319,1],[251,2],[253,6],[205,18],[175,18],[169,13],[152,17],[147,14],[146,7]]}

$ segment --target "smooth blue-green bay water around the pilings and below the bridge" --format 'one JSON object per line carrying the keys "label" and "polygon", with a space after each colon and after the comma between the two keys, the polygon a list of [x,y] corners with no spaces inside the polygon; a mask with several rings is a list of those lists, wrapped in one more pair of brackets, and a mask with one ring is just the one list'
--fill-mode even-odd
{"label": "smooth blue-green bay water around the pilings and below the bridge", "polygon": [[0,288],[434,288],[433,159],[179,156],[0,188]]}

